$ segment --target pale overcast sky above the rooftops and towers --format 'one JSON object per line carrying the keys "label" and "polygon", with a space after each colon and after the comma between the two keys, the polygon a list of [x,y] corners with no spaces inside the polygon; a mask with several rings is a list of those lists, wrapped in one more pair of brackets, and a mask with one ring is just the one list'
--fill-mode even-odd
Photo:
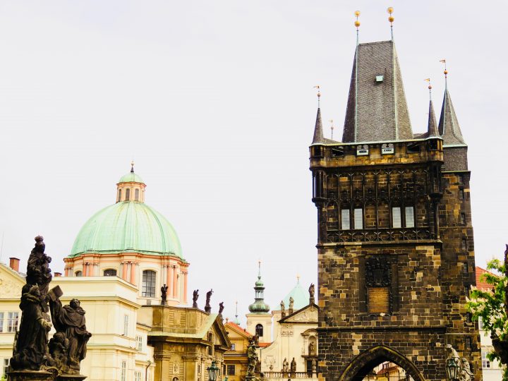
{"label": "pale overcast sky above the rooftops and towers", "polygon": [[[413,131],[432,78],[469,145],[476,264],[508,241],[504,1],[1,1],[1,261],[44,235],[62,271],[75,236],[130,169],[191,262],[189,290],[241,317],[258,258],[272,307],[317,282],[308,145],[322,87],[340,138],[355,49],[389,39]],[[204,303],[204,301],[201,301]]]}

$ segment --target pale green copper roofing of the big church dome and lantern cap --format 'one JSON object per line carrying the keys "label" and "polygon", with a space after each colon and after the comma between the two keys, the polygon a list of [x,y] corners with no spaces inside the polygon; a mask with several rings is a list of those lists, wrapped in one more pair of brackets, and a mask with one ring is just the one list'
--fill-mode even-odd
{"label": "pale green copper roofing of the big church dome and lantern cap", "polygon": [[[142,182],[134,176],[139,179],[136,182]],[[145,253],[183,259],[173,226],[162,214],[136,201],[116,202],[94,214],[75,238],[69,257],[83,253]]]}

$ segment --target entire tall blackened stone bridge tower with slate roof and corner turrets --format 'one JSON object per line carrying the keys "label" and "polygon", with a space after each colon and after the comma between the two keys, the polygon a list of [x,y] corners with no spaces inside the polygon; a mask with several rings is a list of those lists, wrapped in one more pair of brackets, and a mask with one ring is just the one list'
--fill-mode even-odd
{"label": "entire tall blackened stone bridge tower with slate roof and corner turrets", "polygon": [[448,87],[439,123],[430,100],[425,124],[413,133],[393,40],[357,45],[341,141],[325,138],[317,109],[320,380],[362,380],[384,361],[444,380],[445,344],[481,380],[465,308],[476,282],[468,147]]}

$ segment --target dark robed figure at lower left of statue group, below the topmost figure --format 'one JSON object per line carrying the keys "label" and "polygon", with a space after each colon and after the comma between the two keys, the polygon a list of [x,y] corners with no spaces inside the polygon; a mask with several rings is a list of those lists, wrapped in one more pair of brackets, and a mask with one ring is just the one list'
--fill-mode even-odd
{"label": "dark robed figure at lower left of statue group, below the topmost figure", "polygon": [[43,310],[40,287],[25,284],[21,293],[21,322],[16,332],[11,368],[43,370],[47,365],[48,332],[52,325]]}

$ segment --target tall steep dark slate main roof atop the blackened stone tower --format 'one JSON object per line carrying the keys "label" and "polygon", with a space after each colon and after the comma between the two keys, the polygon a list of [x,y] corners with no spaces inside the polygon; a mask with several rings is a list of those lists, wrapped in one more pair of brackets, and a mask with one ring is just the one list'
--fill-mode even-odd
{"label": "tall steep dark slate main roof atop the blackened stone tower", "polygon": [[[382,82],[376,76],[383,75]],[[344,143],[413,139],[393,41],[359,44],[344,121]]]}

